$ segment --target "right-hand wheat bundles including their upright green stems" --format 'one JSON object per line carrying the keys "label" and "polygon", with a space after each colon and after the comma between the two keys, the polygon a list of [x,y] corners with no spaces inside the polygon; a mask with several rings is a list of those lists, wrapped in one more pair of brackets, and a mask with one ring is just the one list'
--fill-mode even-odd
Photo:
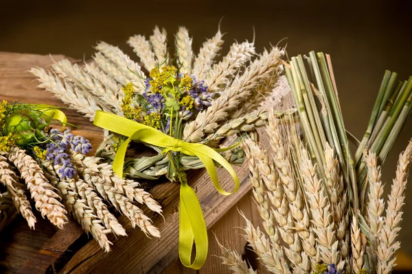
{"label": "right-hand wheat bundles including their upright green stems", "polygon": [[[397,82],[396,73],[385,72],[358,141],[345,129],[329,55],[293,57],[285,71],[300,127],[281,125],[272,112],[271,149],[251,139],[242,143],[264,227],[245,218],[244,237],[271,273],[391,273],[412,142],[399,155],[386,202],[380,166],[412,112],[412,77]],[[349,141],[358,147],[354,156]],[[255,273],[236,251],[221,249],[234,273]]]}

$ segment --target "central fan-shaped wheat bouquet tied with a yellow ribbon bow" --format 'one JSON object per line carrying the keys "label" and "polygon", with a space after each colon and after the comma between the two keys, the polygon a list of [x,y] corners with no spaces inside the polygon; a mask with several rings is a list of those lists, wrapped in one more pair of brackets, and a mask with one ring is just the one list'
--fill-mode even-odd
{"label": "central fan-shaped wheat bouquet tied with a yellow ribbon bow", "polygon": [[[93,62],[83,67],[62,60],[52,71],[34,68],[40,87],[53,92],[71,108],[107,130],[97,154],[113,162],[117,175],[157,179],[166,175],[181,183],[179,255],[185,266],[199,269],[207,255],[207,232],[201,207],[185,171],[205,167],[214,186],[223,195],[215,164],[238,178],[231,164],[241,164],[242,149],[236,147],[245,133],[255,131],[267,119],[260,110],[283,72],[284,50],[271,47],[257,58],[253,42],[235,42],[229,53],[216,62],[222,33],[203,43],[196,57],[192,38],[180,27],[176,55],[168,53],[165,30],[155,28],[146,40],[128,40],[141,64],[130,60],[117,47],[98,43]],[[279,118],[294,112],[277,112]],[[220,141],[238,134],[227,148]],[[126,158],[130,141],[142,142],[158,155]],[[196,259],[191,262],[193,241]]]}

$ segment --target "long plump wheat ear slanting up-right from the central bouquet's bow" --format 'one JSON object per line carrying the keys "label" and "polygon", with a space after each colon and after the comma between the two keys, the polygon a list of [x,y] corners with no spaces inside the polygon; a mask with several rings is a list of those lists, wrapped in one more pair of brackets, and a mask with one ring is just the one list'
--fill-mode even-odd
{"label": "long plump wheat ear slanting up-right from the central bouquet's bow", "polygon": [[215,99],[207,110],[200,112],[196,119],[185,125],[183,140],[200,142],[205,133],[214,132],[218,122],[226,119],[229,112],[240,108],[240,102],[247,99],[255,88],[272,77],[280,62],[279,49],[273,47],[265,51],[261,58],[255,60],[246,71],[236,79],[222,95]]}

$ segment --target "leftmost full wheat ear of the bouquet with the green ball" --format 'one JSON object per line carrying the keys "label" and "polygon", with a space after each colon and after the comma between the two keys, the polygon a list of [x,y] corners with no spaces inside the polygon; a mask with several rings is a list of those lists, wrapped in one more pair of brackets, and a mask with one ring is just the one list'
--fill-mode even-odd
{"label": "leftmost full wheat ear of the bouquet with the green ball", "polygon": [[32,212],[32,206],[27,200],[23,185],[19,183],[19,177],[14,173],[12,166],[7,161],[7,158],[0,155],[0,182],[4,184],[10,193],[10,197],[16,209],[23,215],[24,219],[30,228],[34,229],[36,217]]}

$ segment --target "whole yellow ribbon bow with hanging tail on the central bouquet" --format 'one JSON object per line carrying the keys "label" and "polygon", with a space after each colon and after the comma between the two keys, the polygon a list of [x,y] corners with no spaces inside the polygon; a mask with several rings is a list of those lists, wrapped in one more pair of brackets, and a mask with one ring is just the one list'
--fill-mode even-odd
{"label": "whole yellow ribbon bow with hanging tail on the central bouquet", "polygon": [[[162,153],[178,151],[186,155],[197,156],[203,162],[214,186],[222,195],[231,195],[239,188],[239,179],[236,172],[229,162],[218,153],[233,147],[212,149],[206,145],[185,142],[163,134],[163,132],[153,127],[102,111],[96,112],[93,124],[128,137],[117,149],[115,159],[113,160],[113,171],[119,175],[119,177],[123,177],[124,157],[128,143],[130,140],[137,140],[139,142],[145,142],[146,144],[155,145],[156,147],[163,147]],[[216,173],[216,166],[213,161],[218,162],[224,167],[233,178],[236,187],[232,192],[226,192],[222,186],[220,186],[218,173]],[[185,173],[179,173],[179,179],[181,181],[179,257],[184,266],[197,270],[201,269],[207,257],[207,230],[196,192],[187,185]],[[194,262],[191,260],[193,242],[196,249]]]}

